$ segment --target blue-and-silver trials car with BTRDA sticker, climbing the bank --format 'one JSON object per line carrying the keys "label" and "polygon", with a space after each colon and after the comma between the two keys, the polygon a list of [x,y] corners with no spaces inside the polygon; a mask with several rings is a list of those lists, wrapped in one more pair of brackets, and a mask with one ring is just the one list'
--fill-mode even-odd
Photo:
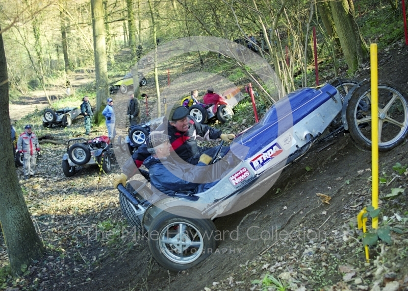
{"label": "blue-and-silver trials car with BTRDA sticker, climbing the bank", "polygon": [[[119,184],[123,215],[147,236],[152,255],[164,268],[178,272],[206,259],[218,246],[213,220],[259,199],[282,169],[322,140],[323,133],[330,136],[344,128],[356,146],[370,149],[370,80],[333,85],[299,89],[274,104],[259,123],[236,136],[226,157],[238,164],[205,192],[153,193],[143,170],[144,183]],[[379,82],[378,111],[379,150],[389,151],[408,134],[406,95],[391,83]]]}

